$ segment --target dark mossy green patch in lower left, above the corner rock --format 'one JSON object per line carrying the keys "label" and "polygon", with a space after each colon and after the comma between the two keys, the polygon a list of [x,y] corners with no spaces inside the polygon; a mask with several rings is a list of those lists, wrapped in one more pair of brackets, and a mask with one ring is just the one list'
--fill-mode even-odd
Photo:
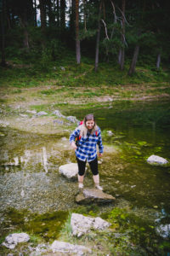
{"label": "dark mossy green patch in lower left, above the corner rock", "polygon": [[7,217],[11,223],[10,227],[12,225],[18,231],[28,232],[31,235],[31,241],[37,243],[40,239],[46,241],[57,239],[68,214],[63,211],[37,214],[10,209]]}

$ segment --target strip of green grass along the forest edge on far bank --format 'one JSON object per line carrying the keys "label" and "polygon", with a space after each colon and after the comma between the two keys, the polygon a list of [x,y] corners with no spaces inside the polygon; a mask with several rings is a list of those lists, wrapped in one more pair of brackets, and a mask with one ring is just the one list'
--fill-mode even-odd
{"label": "strip of green grass along the forest edge on far bank", "polygon": [[[10,61],[10,60],[9,60]],[[20,60],[15,60],[14,67],[0,67],[1,86],[14,86],[16,88],[35,87],[39,84],[65,85],[66,87],[83,86],[98,87],[101,85],[114,86],[126,84],[143,84],[168,82],[170,73],[168,70],[156,71],[153,67],[140,67],[137,63],[136,73],[130,77],[127,75],[129,65],[126,64],[123,71],[116,63],[99,63],[98,72],[94,72],[94,61],[82,57],[82,63],[77,65],[75,56],[62,57],[59,61],[48,61],[42,65],[41,60],[25,65]],[[61,67],[65,67],[62,70]],[[87,91],[88,92],[88,91]],[[42,94],[52,94],[53,91]],[[55,93],[55,91],[54,91]],[[91,95],[90,95],[91,96]]]}

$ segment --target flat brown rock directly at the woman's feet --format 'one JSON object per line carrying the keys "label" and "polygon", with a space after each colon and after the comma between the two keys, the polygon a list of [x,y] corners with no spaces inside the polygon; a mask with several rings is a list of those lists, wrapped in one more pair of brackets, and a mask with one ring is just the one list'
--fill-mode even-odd
{"label": "flat brown rock directly at the woman's feet", "polygon": [[77,195],[77,203],[88,204],[90,202],[108,203],[115,201],[116,198],[112,195],[108,195],[99,189],[83,189],[81,193]]}

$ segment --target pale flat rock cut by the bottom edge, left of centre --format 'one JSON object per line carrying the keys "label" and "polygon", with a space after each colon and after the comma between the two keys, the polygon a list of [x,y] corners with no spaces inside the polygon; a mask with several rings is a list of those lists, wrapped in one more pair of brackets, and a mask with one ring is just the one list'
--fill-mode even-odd
{"label": "pale flat rock cut by the bottom edge, left of centre", "polygon": [[77,253],[77,255],[88,255],[87,253],[91,253],[91,249],[88,247],[80,246],[80,245],[74,245],[71,244],[70,242],[65,242],[65,241],[57,241],[55,240],[52,245],[51,249],[53,253]]}

